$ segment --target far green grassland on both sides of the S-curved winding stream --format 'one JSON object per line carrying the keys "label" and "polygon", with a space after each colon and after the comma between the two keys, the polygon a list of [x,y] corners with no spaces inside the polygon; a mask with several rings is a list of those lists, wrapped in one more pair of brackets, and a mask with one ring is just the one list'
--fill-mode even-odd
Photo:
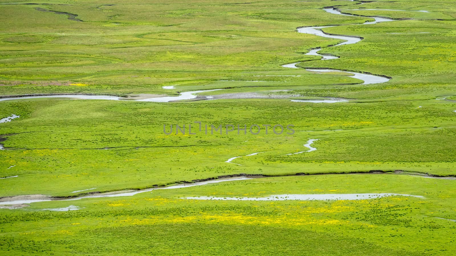
{"label": "far green grassland on both sides of the S-curved winding stream", "polygon": [[[64,1],[60,3],[66,4]],[[369,19],[332,15],[319,10],[334,5],[333,1],[277,1],[268,5],[205,1],[188,1],[179,5],[140,3],[108,6],[84,1],[83,4],[72,2],[70,5],[1,5],[0,8],[9,15],[1,18],[4,26],[0,31],[3,36],[0,77],[3,78],[1,83],[8,86],[1,86],[0,93],[172,93],[161,86],[192,82],[192,85],[210,88],[218,80],[251,80],[245,77],[246,71],[255,71],[250,72],[252,75],[264,75],[266,71],[289,72],[280,65],[318,60],[318,56],[302,53],[337,42],[296,33],[296,27],[359,24]],[[413,14],[415,18],[451,20],[456,16],[448,1],[440,1],[438,6],[425,0],[363,5],[339,1],[337,4],[346,9],[431,11],[380,11],[395,18],[407,18]],[[84,22],[68,20],[67,15],[37,11],[37,7],[77,14]],[[373,12],[379,11],[358,12],[378,15]],[[31,21],[30,17],[34,20]],[[39,25],[33,27],[34,24]],[[388,75],[394,77],[393,80],[385,85],[331,88],[331,91],[303,87],[290,93],[372,98],[389,97],[388,88],[395,88],[410,98],[418,88],[426,93],[450,94],[454,86],[446,84],[454,80],[453,20],[401,20],[368,26],[337,26],[325,31],[365,39],[356,45],[323,50],[343,56],[341,59],[304,62],[302,66],[342,67]],[[430,34],[387,34],[420,31]],[[414,38],[412,44],[415,47],[409,47],[410,36]],[[310,79],[313,85],[318,85],[321,82],[316,80],[327,79],[326,75],[320,76],[321,79],[315,79],[304,72],[303,77],[293,80],[304,86]],[[276,84],[278,86],[292,85],[287,84],[289,78],[269,79],[281,83]],[[322,85],[326,85],[325,82]],[[250,87],[250,84],[239,83],[236,87]],[[377,91],[375,96],[371,90]]]}

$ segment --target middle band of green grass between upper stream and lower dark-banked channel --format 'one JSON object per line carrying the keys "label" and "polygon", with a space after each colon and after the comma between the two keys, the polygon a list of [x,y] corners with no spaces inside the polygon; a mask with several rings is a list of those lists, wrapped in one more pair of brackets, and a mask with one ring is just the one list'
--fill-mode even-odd
{"label": "middle band of green grass between upper stream and lower dark-banked channel", "polygon": [[[287,100],[154,103],[94,100],[3,102],[7,150],[1,195],[50,194],[97,187],[146,188],[225,174],[367,172],[401,169],[455,173],[455,103],[394,101],[315,104]],[[422,108],[418,108],[421,106]],[[274,120],[274,123],[270,123]],[[163,133],[163,125],[287,124],[295,134]],[[198,124],[193,124],[197,129]],[[176,128],[174,128],[175,131]],[[340,130],[343,131],[334,131]],[[332,131],[325,131],[332,130]],[[316,151],[306,151],[308,139]],[[445,142],[445,143],[442,143]],[[231,157],[242,165],[225,163]],[[10,166],[13,168],[7,169]],[[42,182],[33,182],[40,180]],[[27,185],[26,185],[27,184]]]}

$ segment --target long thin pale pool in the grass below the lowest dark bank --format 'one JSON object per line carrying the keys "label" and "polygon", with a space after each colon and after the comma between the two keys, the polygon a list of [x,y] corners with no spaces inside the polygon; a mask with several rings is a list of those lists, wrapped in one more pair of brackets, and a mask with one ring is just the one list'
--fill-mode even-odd
{"label": "long thin pale pool in the grass below the lowest dark bank", "polygon": [[366,200],[381,198],[386,196],[412,196],[424,198],[420,195],[404,195],[392,193],[371,193],[371,194],[285,194],[285,195],[270,195],[268,197],[185,197],[185,199],[194,200],[240,200],[240,201],[284,201],[284,200]]}

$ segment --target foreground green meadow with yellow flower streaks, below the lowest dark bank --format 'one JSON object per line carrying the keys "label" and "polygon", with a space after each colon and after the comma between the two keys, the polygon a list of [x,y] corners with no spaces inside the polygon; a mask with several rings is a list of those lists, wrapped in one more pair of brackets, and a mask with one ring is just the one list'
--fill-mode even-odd
{"label": "foreground green meadow with yellow flower streaks, below the lowest dark bank", "polygon": [[[10,254],[238,253],[451,255],[454,180],[395,174],[275,177],[155,190],[133,197],[41,202],[1,210]],[[185,200],[187,196],[399,193],[342,201]],[[77,205],[72,212],[43,208]],[[241,242],[244,241],[244,242]],[[249,241],[247,245],[241,244]]]}

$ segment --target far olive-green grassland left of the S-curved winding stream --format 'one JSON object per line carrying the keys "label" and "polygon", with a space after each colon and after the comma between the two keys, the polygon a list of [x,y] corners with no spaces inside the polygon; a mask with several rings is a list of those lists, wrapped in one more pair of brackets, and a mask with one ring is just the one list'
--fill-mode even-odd
{"label": "far olive-green grassland left of the S-curved winding stream", "polygon": [[[9,15],[0,20],[0,50],[7,50],[0,78],[9,86],[0,93],[163,93],[168,83],[284,70],[278,64],[309,60],[302,55],[308,48],[337,42],[296,27],[317,17],[321,24],[361,21],[315,13],[321,4],[1,5]],[[35,8],[75,13],[83,22]],[[71,85],[78,83],[89,86]]]}

